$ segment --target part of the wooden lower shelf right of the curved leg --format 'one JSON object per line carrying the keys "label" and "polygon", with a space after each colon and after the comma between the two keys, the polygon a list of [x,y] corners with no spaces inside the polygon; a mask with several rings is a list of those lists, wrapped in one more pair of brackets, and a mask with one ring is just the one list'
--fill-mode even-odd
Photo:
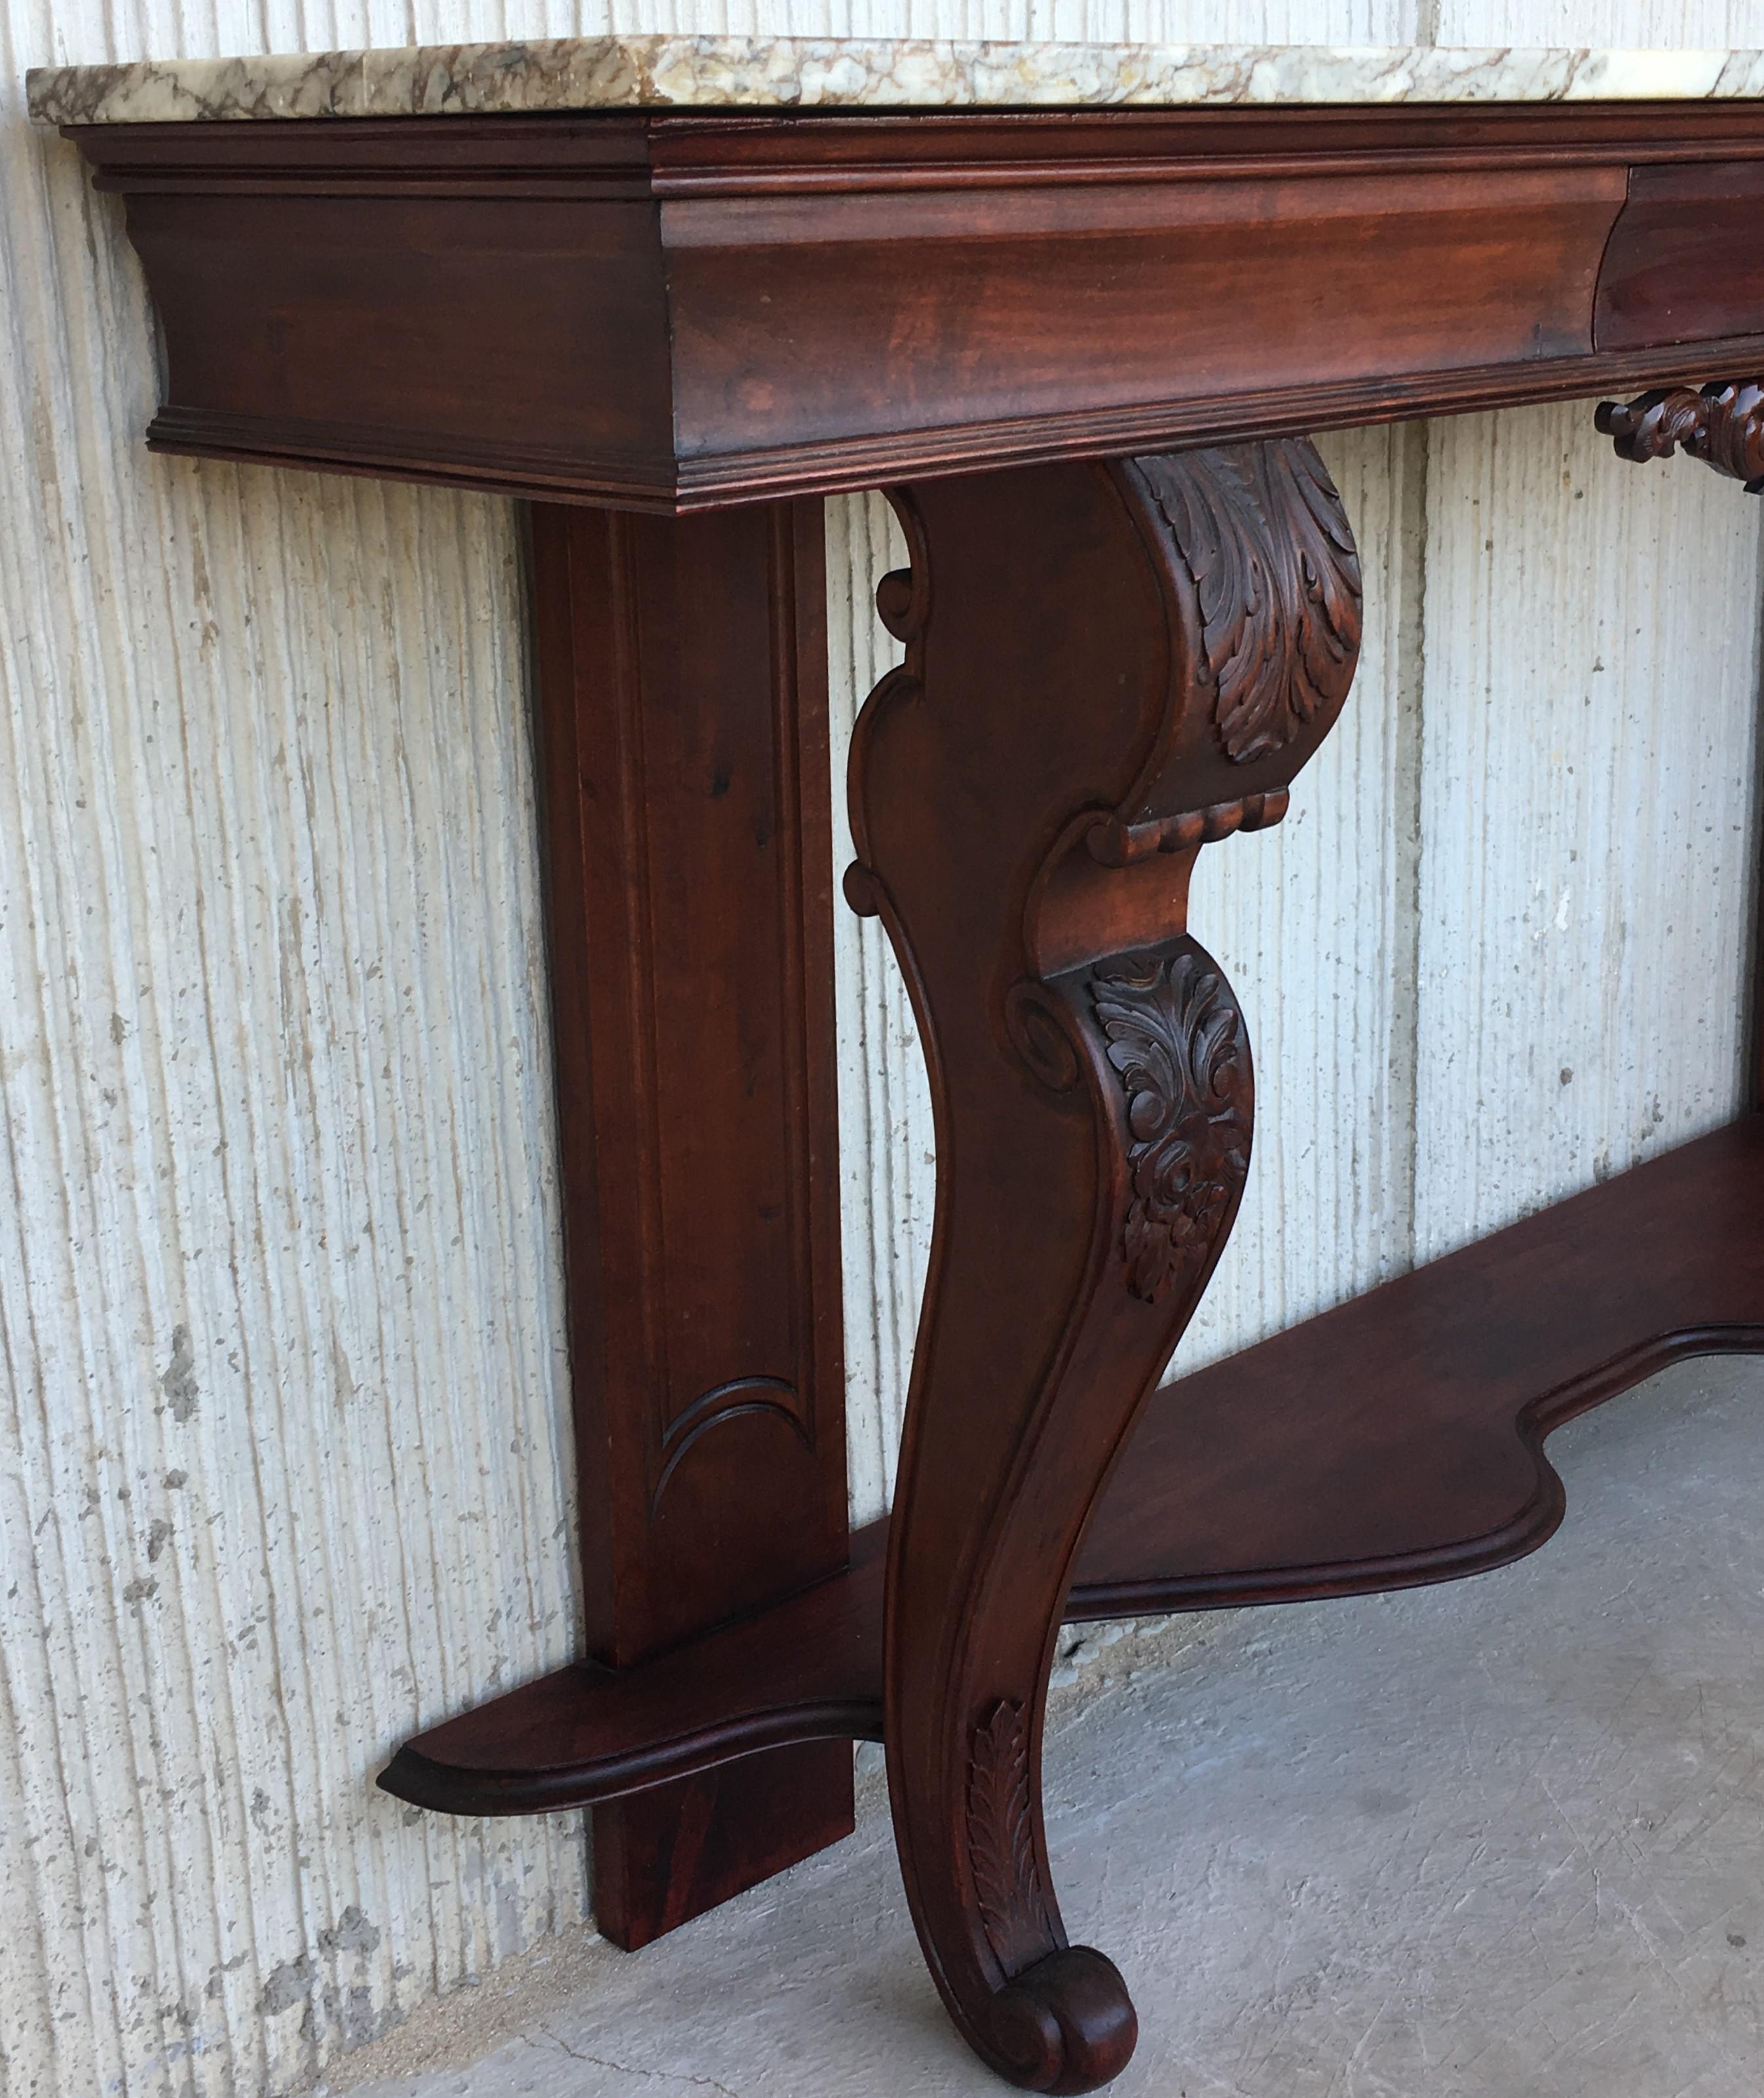
{"label": "part of the wooden lower shelf right of the curved leg", "polygon": [[1351,1594],[1535,1550],[1563,1515],[1546,1435],[1684,1355],[1764,1349],[1762,1192],[1747,1116],[1175,1385],[1084,1548],[1084,1609]]}

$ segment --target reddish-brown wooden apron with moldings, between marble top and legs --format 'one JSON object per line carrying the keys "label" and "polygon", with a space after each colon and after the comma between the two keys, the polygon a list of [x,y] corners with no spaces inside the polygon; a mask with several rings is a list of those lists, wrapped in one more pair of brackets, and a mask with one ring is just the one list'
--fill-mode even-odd
{"label": "reddish-brown wooden apron with moldings, between marble top and legs", "polygon": [[1760,105],[71,136],[170,451],[701,508],[1764,361]]}

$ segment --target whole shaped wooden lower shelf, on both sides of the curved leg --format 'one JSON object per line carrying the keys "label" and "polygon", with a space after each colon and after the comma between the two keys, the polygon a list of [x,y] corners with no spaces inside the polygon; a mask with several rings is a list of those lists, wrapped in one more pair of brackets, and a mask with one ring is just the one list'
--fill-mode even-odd
{"label": "whole shaped wooden lower shelf, on both sides of the curved leg", "polygon": [[[1544,1437],[1684,1355],[1764,1353],[1747,1116],[1160,1391],[1066,1615],[1481,1574],[1563,1515]],[[845,1574],[627,1670],[583,1662],[417,1735],[445,1813],[585,1806],[787,1741],[881,1733],[887,1523]]]}

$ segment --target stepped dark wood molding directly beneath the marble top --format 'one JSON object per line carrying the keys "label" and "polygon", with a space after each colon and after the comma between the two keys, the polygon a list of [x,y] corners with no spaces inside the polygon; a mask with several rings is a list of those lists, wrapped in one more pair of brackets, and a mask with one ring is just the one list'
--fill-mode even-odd
{"label": "stepped dark wood molding directly beneath the marble top", "polygon": [[[63,124],[124,195],[826,197],[1764,159],[1764,103],[556,111]],[[1445,134],[1445,136],[1441,136]],[[1036,151],[1040,141],[1057,151]]]}

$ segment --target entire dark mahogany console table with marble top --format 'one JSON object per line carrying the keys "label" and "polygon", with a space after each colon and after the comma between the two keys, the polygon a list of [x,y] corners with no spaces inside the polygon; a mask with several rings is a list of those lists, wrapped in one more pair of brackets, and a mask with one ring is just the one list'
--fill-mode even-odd
{"label": "entire dark mahogany console table with marble top", "polygon": [[[1135,2012],[1049,1876],[1061,1618],[1498,1565],[1552,1427],[1764,1349],[1751,1114],[1152,1391],[1250,1162],[1189,873],[1355,669],[1303,432],[1640,392],[1619,453],[1756,491],[1760,97],[1758,55],[682,38],[36,76],[128,199],[151,445],[533,504],[589,1655],[386,1790],[594,1806],[640,1945],[843,1834],[881,1739],[950,2014],[1089,2090]],[[906,665],[843,881],[940,1179],[847,1538],[818,499],[875,485]]]}

